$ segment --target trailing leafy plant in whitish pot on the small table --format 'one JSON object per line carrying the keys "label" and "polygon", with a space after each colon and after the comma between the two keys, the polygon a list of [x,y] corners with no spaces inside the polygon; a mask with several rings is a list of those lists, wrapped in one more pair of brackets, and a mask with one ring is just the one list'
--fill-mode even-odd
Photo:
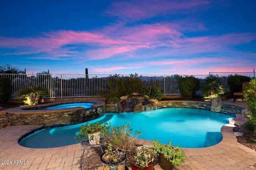
{"label": "trailing leafy plant in whitish pot on the small table", "polygon": [[[79,138],[81,141],[88,136],[89,143],[91,145],[99,144],[100,135],[102,132],[109,129],[108,123],[86,123],[80,127],[80,130],[77,133],[76,138]],[[104,133],[102,133],[104,134]]]}

